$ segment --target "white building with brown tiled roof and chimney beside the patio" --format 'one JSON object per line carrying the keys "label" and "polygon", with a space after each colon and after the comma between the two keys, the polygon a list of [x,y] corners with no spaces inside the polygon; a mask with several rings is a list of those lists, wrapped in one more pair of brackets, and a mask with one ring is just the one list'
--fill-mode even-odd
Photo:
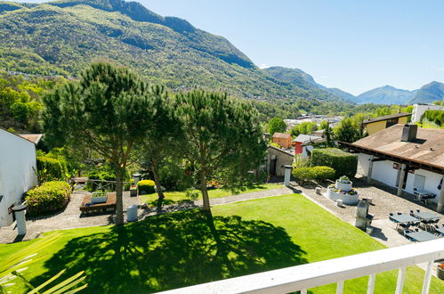
{"label": "white building with brown tiled roof and chimney beside the patio", "polygon": [[355,143],[342,143],[358,154],[358,173],[414,193],[430,192],[438,211],[444,205],[444,130],[395,125]]}

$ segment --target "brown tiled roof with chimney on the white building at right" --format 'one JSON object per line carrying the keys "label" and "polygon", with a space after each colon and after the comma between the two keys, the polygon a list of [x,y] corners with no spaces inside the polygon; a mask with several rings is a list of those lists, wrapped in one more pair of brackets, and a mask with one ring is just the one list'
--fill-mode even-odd
{"label": "brown tiled roof with chimney on the white building at right", "polygon": [[444,129],[418,127],[414,142],[401,142],[403,127],[398,124],[385,128],[350,146],[437,167],[444,172]]}

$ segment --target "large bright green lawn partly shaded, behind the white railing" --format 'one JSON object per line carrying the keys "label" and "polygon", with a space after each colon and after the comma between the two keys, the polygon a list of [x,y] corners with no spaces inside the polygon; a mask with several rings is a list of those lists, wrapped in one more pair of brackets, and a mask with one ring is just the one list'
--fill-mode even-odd
{"label": "large bright green lawn partly shaded, behind the white railing", "polygon": [[[142,293],[384,248],[298,194],[219,205],[213,211],[214,227],[194,209],[124,227],[59,231],[61,239],[41,249],[44,259],[24,274],[41,282],[66,266],[69,274],[86,271],[86,292]],[[0,245],[0,260],[33,242]],[[375,293],[393,293],[396,274],[378,274]],[[404,293],[420,292],[423,277],[418,267],[408,268]],[[433,278],[430,293],[443,289],[444,282]],[[366,290],[367,277],[345,282],[345,293]],[[311,291],[331,293],[335,285]]]}

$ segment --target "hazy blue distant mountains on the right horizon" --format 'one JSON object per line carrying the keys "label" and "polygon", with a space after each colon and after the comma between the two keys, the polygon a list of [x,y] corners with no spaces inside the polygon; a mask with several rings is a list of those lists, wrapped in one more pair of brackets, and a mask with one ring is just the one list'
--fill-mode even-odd
{"label": "hazy blue distant mountains on the right horizon", "polygon": [[295,86],[302,88],[316,86],[336,97],[341,97],[346,101],[357,104],[413,104],[444,100],[444,84],[436,81],[424,85],[420,89],[414,91],[402,90],[393,86],[381,86],[359,94],[358,96],[354,96],[341,89],[328,88],[318,84],[311,75],[307,74],[302,69],[270,67],[263,70],[269,73],[270,76],[292,83]]}

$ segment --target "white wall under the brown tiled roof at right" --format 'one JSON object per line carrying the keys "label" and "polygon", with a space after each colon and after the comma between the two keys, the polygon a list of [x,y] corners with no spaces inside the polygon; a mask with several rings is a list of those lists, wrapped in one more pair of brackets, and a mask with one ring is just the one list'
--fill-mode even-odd
{"label": "white wall under the brown tiled roof at right", "polygon": [[[370,158],[370,155],[359,153],[359,175],[367,176]],[[393,168],[393,163],[395,162],[390,160],[375,161],[373,163],[372,179],[375,179],[376,181],[383,184],[396,187],[396,180],[398,178],[399,169]],[[425,176],[424,190],[436,194],[437,196],[433,199],[433,201],[438,203],[438,200],[440,198],[440,190],[438,189],[438,185],[440,184],[440,179],[442,178],[442,176],[436,173],[432,173],[428,170],[416,169],[414,174],[407,174],[406,188],[404,189],[405,192],[413,194],[413,189],[415,188],[415,175]],[[444,189],[444,184],[441,189]]]}

